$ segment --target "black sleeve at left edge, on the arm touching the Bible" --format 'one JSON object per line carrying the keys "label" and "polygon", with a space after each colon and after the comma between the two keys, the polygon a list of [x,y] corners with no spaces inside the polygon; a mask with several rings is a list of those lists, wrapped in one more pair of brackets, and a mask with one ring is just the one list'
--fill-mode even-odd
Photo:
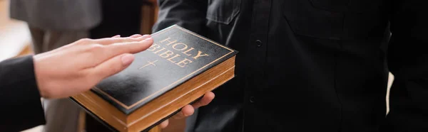
{"label": "black sleeve at left edge, on the arm touching the Bible", "polygon": [[0,62],[0,131],[24,131],[45,123],[33,57]]}

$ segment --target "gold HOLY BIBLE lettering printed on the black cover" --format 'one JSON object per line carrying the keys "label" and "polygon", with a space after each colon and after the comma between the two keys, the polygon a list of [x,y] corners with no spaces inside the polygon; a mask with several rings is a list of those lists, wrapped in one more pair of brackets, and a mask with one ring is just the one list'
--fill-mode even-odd
{"label": "gold HOLY BIBLE lettering printed on the black cover", "polygon": [[[169,46],[169,49],[172,48],[175,52],[168,50],[165,46]],[[195,50],[195,48],[170,37],[160,40],[158,43],[153,43],[153,45],[151,45],[147,50],[153,51],[156,55],[159,55],[180,67],[185,67],[185,65],[198,60],[198,57],[208,56],[208,54],[203,53],[200,50]],[[189,60],[188,57],[191,59]]]}

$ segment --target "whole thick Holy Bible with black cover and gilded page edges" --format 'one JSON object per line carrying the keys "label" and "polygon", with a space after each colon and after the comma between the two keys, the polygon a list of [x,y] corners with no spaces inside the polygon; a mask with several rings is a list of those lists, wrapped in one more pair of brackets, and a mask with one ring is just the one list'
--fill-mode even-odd
{"label": "whole thick Holy Bible with black cover and gilded page edges", "polygon": [[174,25],[125,70],[71,97],[113,131],[148,131],[235,77],[238,51]]}

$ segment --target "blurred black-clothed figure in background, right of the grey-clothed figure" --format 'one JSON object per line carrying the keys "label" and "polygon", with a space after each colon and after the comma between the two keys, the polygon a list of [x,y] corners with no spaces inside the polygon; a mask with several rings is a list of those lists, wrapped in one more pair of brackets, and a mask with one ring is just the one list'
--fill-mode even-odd
{"label": "blurred black-clothed figure in background, right of the grey-clothed figure", "polygon": [[[129,36],[140,33],[142,0],[101,1],[103,20],[90,32],[90,38],[106,38],[113,35]],[[111,131],[90,114],[86,114],[86,131]]]}

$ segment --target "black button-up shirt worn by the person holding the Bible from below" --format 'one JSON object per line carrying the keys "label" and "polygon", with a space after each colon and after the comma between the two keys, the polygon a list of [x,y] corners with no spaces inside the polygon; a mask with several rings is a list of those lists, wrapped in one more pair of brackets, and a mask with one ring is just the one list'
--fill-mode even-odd
{"label": "black button-up shirt worn by the person holding the Bible from below", "polygon": [[161,0],[153,31],[178,24],[240,52],[188,131],[428,131],[424,3]]}

